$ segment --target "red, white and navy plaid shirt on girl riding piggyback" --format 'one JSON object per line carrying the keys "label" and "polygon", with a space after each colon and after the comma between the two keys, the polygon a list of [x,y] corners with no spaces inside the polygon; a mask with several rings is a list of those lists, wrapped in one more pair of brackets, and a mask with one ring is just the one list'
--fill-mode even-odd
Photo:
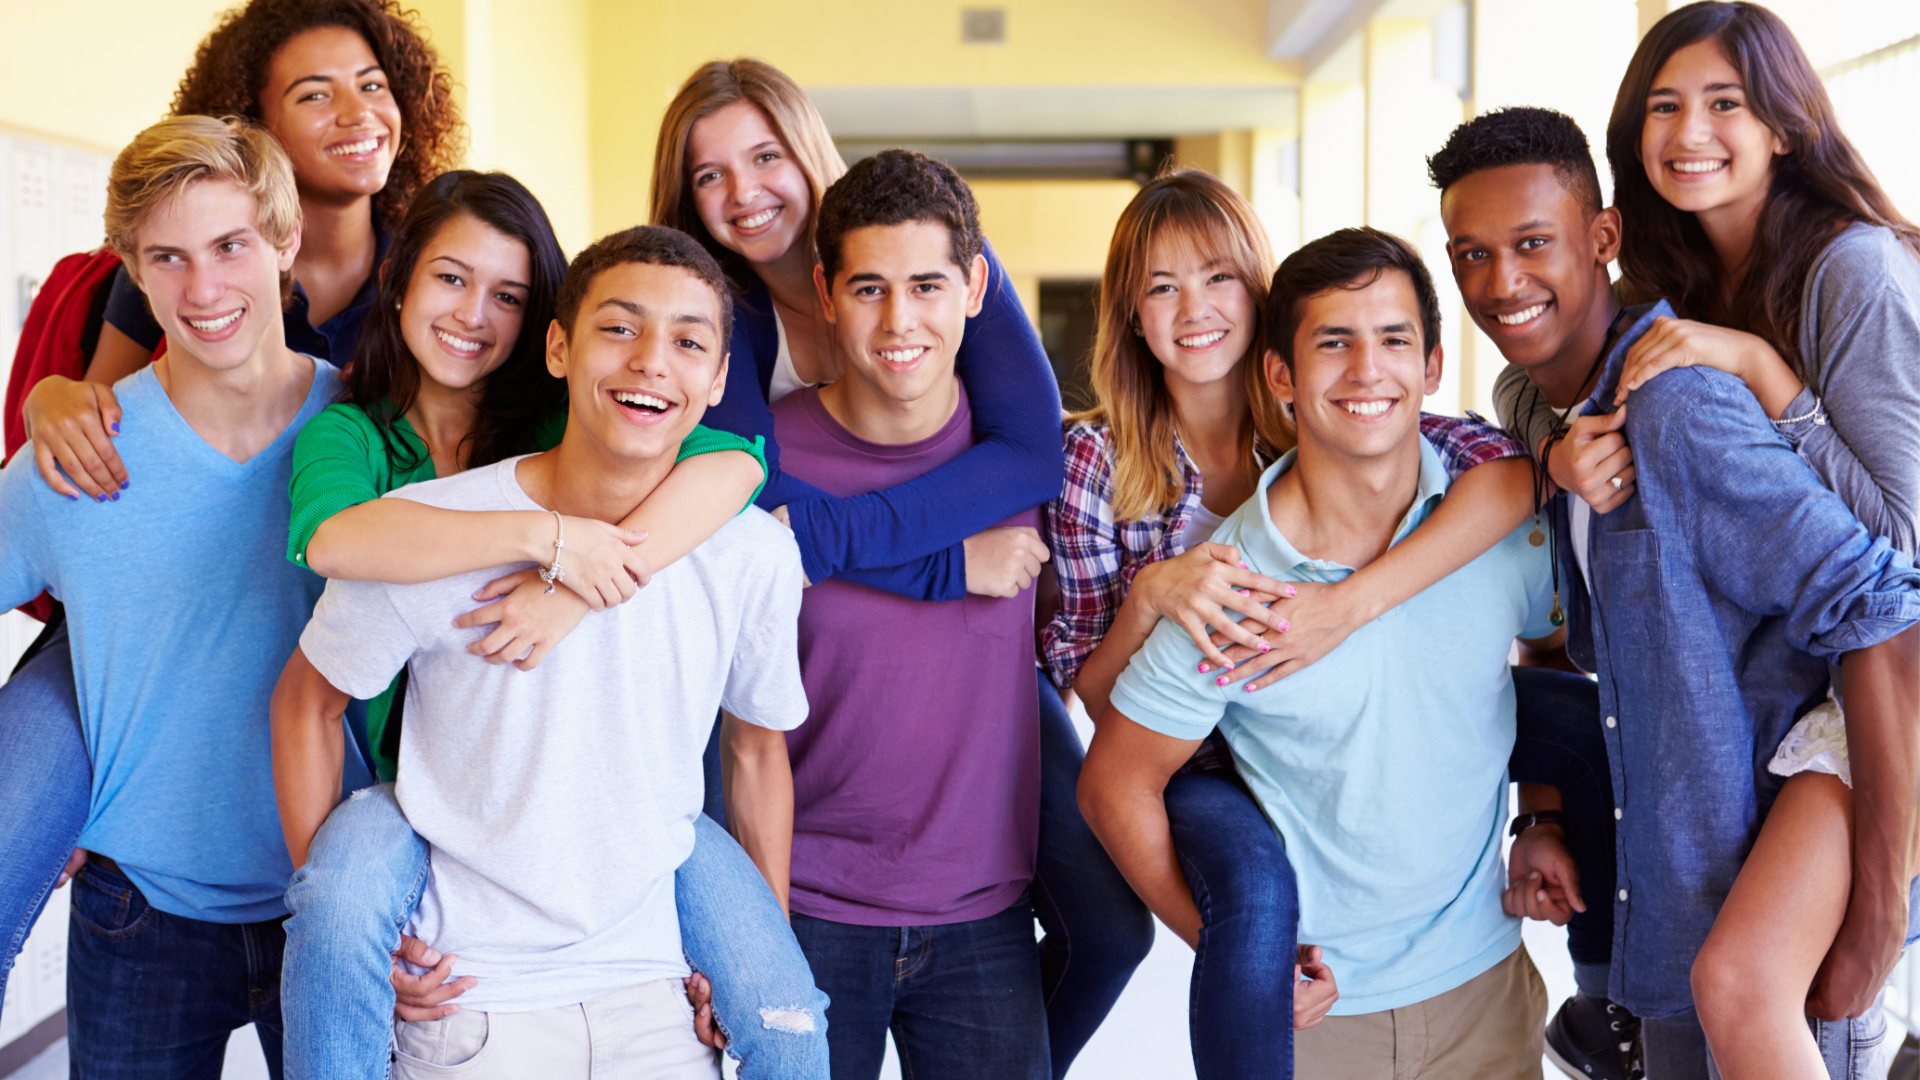
{"label": "red, white and navy plaid shirt on girl riding piggyback", "polygon": [[[1448,475],[1459,479],[1475,465],[1500,457],[1526,457],[1526,448],[1484,419],[1421,413],[1421,434],[1434,444]],[[1075,423],[1066,432],[1068,479],[1060,498],[1046,505],[1046,546],[1060,578],[1060,613],[1041,630],[1041,661],[1054,686],[1068,688],[1081,663],[1106,638],[1119,601],[1133,588],[1140,567],[1171,559],[1181,528],[1200,509],[1200,469],[1179,436],[1187,490],[1171,511],[1142,521],[1114,521],[1114,457],[1106,425]],[[1261,455],[1261,463],[1269,459]]]}

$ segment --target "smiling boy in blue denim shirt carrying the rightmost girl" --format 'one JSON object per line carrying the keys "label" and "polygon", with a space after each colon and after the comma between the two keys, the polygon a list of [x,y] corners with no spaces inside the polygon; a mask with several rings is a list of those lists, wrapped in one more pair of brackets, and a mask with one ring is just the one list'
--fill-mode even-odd
{"label": "smiling boy in blue denim shirt carrying the rightmost girl", "polygon": [[[1876,1013],[1907,928],[1920,632],[1903,630],[1920,619],[1920,575],[1866,534],[1738,379],[1668,371],[1613,407],[1626,350],[1672,311],[1615,300],[1619,215],[1599,208],[1569,117],[1482,115],[1428,167],[1461,298],[1511,361],[1501,421],[1549,448],[1572,488],[1546,517],[1569,653],[1599,675],[1613,773],[1607,997],[1640,1013],[1649,1076],[1707,1076],[1690,969],[1780,792],[1766,761],[1845,659],[1849,740],[1880,748],[1876,774],[1855,774],[1857,821],[1872,826],[1855,834],[1847,926],[1809,1011],[1826,1017],[1811,1022],[1828,1068],[1847,1076],[1849,1055],[1878,1043],[1878,1017],[1860,1013]],[[1830,1022],[1847,1013],[1859,1019]]]}

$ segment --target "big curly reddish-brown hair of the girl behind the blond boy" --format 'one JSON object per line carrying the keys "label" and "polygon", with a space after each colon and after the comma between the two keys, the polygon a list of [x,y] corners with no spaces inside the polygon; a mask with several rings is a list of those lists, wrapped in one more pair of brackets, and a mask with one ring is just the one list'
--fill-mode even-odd
{"label": "big curly reddish-brown hair of the girl behind the blond boy", "polygon": [[261,119],[261,90],[273,56],[290,38],[319,27],[346,27],[365,38],[399,104],[401,140],[386,186],[372,198],[386,229],[397,229],[413,192],[461,158],[461,117],[453,79],[420,35],[419,15],[396,0],[252,0],[221,15],[173,94],[173,115]]}

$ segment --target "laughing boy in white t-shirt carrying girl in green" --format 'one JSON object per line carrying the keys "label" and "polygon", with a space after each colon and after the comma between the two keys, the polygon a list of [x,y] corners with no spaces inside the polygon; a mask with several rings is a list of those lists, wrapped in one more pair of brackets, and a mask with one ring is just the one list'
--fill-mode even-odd
{"label": "laughing boy in white t-shirt carrying girl in green", "polygon": [[[666,477],[726,384],[720,267],[682,233],[628,229],[574,259],[555,315],[547,365],[566,377],[570,409],[561,444],[390,498],[620,521]],[[693,849],[714,711],[745,721],[730,723],[735,749],[766,742],[781,759],[781,732],[806,719],[799,550],[747,509],[532,673],[474,665],[467,646],[484,630],[453,626],[474,590],[513,569],[328,582],[276,696],[276,728],[319,730],[348,694],[413,673],[396,799],[432,872],[407,934],[457,953],[453,974],[476,986],[459,1013],[396,1022],[396,1074],[457,1065],[470,1078],[586,1078],[616,1061],[645,1076],[718,1076],[682,992],[674,869]],[[307,690],[290,692],[303,665]],[[317,678],[332,694],[313,692]],[[298,861],[330,803],[288,813],[301,776],[280,769],[276,780]],[[770,786],[781,780],[776,771]],[[747,819],[735,828],[785,851],[791,798],[791,786],[735,794]]]}

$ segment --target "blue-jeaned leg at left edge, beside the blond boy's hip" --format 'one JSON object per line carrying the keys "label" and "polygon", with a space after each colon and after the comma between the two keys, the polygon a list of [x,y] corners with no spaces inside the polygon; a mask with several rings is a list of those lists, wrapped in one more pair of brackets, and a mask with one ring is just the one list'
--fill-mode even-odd
{"label": "blue-jeaned leg at left edge, beside the blond boy's hip", "polygon": [[0,686],[0,997],[92,799],[67,628],[40,646]]}

